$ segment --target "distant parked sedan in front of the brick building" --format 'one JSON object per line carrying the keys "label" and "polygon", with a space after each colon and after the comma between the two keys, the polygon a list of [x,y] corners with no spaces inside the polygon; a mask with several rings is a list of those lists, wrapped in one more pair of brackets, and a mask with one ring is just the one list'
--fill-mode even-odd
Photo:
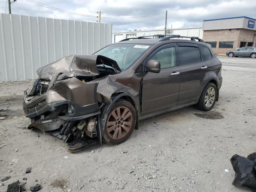
{"label": "distant parked sedan in front of the brick building", "polygon": [[229,57],[243,56],[256,58],[256,47],[241,47],[237,50],[229,50],[227,51],[226,55]]}

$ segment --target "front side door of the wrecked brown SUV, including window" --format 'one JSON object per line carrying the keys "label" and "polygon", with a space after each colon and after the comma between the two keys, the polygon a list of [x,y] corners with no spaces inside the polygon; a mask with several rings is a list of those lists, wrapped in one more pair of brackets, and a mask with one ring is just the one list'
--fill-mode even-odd
{"label": "front side door of the wrecked brown SUV, including window", "polygon": [[[147,59],[160,62],[160,73],[147,72],[142,82],[142,114],[175,106],[180,89],[180,67],[176,64],[176,46],[156,49]],[[146,62],[147,62],[146,61]]]}

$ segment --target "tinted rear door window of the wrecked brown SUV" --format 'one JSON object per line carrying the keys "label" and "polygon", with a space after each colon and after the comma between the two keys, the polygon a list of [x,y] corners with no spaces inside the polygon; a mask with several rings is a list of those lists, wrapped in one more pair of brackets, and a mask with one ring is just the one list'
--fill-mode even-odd
{"label": "tinted rear door window of the wrecked brown SUV", "polygon": [[179,46],[179,64],[200,62],[201,56],[198,47]]}

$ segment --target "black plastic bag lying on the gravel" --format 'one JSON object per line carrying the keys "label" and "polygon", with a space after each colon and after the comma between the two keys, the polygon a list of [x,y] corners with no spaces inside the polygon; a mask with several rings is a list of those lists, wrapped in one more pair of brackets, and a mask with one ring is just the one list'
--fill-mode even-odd
{"label": "black plastic bag lying on the gravel", "polygon": [[230,161],[236,172],[232,184],[256,192],[256,152],[247,158],[235,154]]}

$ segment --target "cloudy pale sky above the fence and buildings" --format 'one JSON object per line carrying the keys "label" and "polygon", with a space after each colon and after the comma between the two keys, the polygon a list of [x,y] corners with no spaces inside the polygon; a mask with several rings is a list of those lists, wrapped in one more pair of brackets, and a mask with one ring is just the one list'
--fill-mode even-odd
{"label": "cloudy pale sky above the fence and buildings", "polygon": [[[12,0],[13,1],[13,0]],[[256,18],[256,0],[16,0],[12,14],[43,16],[112,24],[112,32],[128,30],[200,27],[207,19],[248,16]],[[45,5],[54,7],[47,8]],[[41,4],[41,5],[42,5]],[[8,13],[6,0],[0,0],[0,12]],[[56,10],[56,8],[62,11]],[[75,14],[74,14],[75,13]],[[157,14],[155,16],[150,16]],[[134,17],[144,18],[131,19]],[[122,19],[120,19],[122,18]],[[119,19],[119,20],[118,20]]]}

